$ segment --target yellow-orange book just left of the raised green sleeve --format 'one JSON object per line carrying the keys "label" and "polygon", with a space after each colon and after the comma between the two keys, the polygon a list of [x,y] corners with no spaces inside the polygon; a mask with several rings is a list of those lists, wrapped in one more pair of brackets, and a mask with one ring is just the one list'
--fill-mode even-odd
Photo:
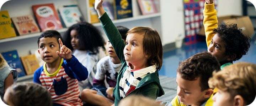
{"label": "yellow-orange book just left of the raised green sleeve", "polygon": [[95,0],[89,0],[89,17],[91,23],[98,23],[100,20],[98,19],[97,11],[94,8]]}

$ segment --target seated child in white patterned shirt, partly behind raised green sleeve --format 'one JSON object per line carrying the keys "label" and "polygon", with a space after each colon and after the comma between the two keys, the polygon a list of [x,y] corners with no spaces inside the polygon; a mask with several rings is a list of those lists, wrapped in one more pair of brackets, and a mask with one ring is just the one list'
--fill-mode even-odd
{"label": "seated child in white patterned shirt, partly behind raised green sleeve", "polygon": [[[126,33],[129,30],[123,26],[117,26],[122,39],[126,40]],[[87,104],[96,106],[112,105],[112,94],[107,94],[107,89],[113,89],[116,86],[117,75],[121,69],[121,61],[118,59],[116,52],[110,41],[107,42],[108,56],[102,58],[97,63],[97,72],[94,77],[92,89],[84,89],[81,93],[81,99]],[[107,83],[105,83],[105,81]],[[106,104],[107,103],[107,104]]]}

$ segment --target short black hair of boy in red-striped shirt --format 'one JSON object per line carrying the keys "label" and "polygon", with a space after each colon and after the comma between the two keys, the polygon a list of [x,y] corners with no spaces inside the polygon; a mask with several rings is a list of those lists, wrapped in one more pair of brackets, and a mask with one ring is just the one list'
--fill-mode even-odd
{"label": "short black hair of boy in red-striped shirt", "polygon": [[60,38],[60,40],[63,41],[63,39],[60,36],[60,33],[58,31],[56,31],[56,30],[47,30],[47,31],[42,32],[42,34],[38,37],[38,40],[37,40],[38,48],[39,48],[40,39],[43,38],[43,37],[56,38],[58,44],[59,44],[59,38]]}

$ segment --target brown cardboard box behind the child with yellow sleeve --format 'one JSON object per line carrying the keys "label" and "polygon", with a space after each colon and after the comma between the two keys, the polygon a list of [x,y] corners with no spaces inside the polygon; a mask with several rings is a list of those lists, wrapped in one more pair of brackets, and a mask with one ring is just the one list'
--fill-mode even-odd
{"label": "brown cardboard box behind the child with yellow sleeve", "polygon": [[[254,27],[252,25],[251,19],[249,16],[222,16],[218,17],[218,25],[220,24],[237,24],[238,28],[241,28],[243,33],[252,36],[254,33]],[[205,36],[204,28],[202,27],[198,35]]]}

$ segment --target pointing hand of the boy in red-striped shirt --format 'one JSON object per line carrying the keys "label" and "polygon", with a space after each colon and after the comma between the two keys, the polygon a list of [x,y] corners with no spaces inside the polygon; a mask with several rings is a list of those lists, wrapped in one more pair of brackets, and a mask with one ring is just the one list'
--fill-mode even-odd
{"label": "pointing hand of the boy in red-striped shirt", "polygon": [[63,45],[60,38],[59,38],[59,44],[60,44],[60,52],[57,51],[56,53],[59,55],[60,58],[70,60],[72,58],[71,50],[67,48],[65,45]]}

